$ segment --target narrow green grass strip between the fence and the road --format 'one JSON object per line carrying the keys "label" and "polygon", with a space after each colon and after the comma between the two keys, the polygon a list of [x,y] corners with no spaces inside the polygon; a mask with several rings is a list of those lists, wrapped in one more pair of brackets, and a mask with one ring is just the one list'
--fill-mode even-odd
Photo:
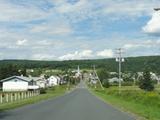
{"label": "narrow green grass strip between the fence and the road", "polygon": [[66,91],[66,86],[58,86],[55,88],[50,88],[47,90],[46,94],[41,94],[39,96],[34,96],[31,98],[15,101],[12,103],[0,104],[0,111],[14,109],[14,108],[21,107],[24,105],[34,104],[34,103],[37,103],[43,100],[47,100],[52,97],[57,97],[57,96],[63,95],[65,91]]}

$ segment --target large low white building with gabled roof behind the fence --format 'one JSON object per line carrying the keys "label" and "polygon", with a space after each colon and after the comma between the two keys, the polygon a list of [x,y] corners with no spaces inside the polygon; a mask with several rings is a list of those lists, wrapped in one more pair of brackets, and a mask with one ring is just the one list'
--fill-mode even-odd
{"label": "large low white building with gabled roof behind the fence", "polygon": [[38,89],[35,81],[24,76],[12,76],[1,80],[3,91],[27,91]]}

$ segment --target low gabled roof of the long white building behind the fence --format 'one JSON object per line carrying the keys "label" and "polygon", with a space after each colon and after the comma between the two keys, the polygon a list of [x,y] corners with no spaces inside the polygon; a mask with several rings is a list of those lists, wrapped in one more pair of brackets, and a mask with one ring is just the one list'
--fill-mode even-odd
{"label": "low gabled roof of the long white building behind the fence", "polygon": [[9,81],[9,80],[12,80],[14,78],[17,78],[19,80],[26,81],[26,82],[30,82],[30,81],[33,80],[33,79],[29,78],[29,77],[24,77],[24,76],[11,76],[11,77],[2,79],[1,82]]}

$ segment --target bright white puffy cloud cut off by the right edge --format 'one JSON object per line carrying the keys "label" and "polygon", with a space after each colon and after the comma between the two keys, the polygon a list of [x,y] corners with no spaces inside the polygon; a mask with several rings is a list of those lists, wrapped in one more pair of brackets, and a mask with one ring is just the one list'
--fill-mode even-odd
{"label": "bright white puffy cloud cut off by the right edge", "polygon": [[160,36],[160,12],[153,13],[151,20],[143,27],[143,31],[151,35]]}

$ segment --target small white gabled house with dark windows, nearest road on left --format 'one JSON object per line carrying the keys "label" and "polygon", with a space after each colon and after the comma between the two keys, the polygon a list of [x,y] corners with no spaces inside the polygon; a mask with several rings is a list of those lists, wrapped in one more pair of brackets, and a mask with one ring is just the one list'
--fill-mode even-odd
{"label": "small white gabled house with dark windows, nearest road on left", "polygon": [[60,78],[58,76],[50,76],[47,80],[47,84],[49,87],[59,85]]}

